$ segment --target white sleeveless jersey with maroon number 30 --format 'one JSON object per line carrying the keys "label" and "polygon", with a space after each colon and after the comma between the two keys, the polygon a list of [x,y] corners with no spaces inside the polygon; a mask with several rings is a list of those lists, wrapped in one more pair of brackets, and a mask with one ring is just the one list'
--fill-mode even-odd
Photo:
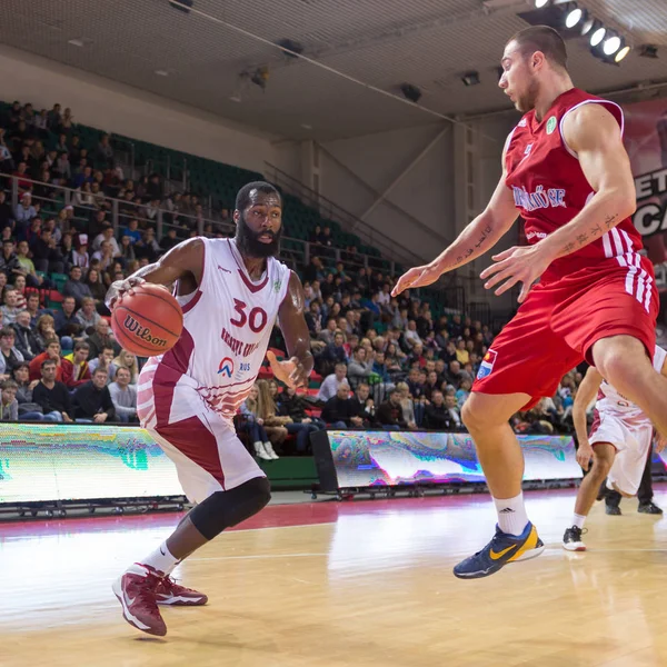
{"label": "white sleeveless jersey with maroon number 30", "polygon": [[[177,345],[146,365],[178,371],[178,382],[197,389],[223,418],[231,419],[248,397],[265,359],[278,309],[287,295],[290,270],[277,259],[252,281],[233,239],[202,239],[205,260],[196,292],[177,297],[183,332]],[[167,369],[165,369],[167,371]],[[156,374],[156,380],[171,372]],[[173,405],[172,418],[178,416]]]}

